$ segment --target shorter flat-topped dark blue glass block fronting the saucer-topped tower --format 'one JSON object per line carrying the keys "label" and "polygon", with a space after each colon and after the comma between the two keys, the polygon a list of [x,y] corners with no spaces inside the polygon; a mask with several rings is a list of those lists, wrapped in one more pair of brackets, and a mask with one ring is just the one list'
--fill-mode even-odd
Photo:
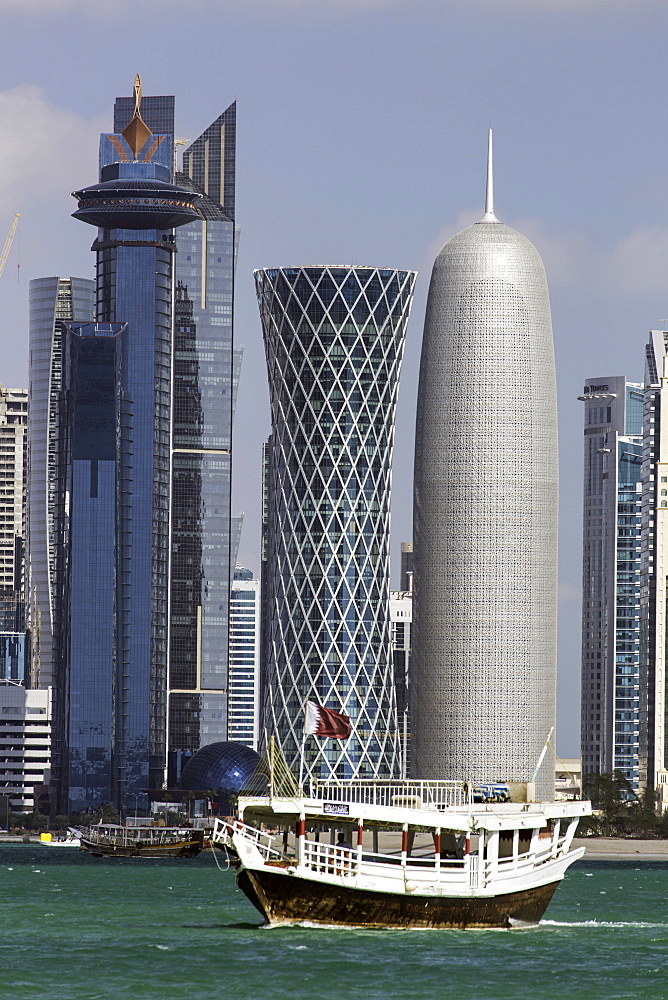
{"label": "shorter flat-topped dark blue glass block fronting the saucer-topped tower", "polygon": [[[69,539],[63,606],[65,808],[114,798],[116,429],[126,324],[68,324],[64,341],[64,512]],[[62,754],[62,747],[60,753]]]}

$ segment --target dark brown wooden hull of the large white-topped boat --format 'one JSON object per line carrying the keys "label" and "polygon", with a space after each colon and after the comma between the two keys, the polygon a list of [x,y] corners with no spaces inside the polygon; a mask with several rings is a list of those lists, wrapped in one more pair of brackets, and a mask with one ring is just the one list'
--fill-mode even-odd
{"label": "dark brown wooden hull of the large white-topped boat", "polygon": [[295,877],[280,869],[242,868],[239,888],[269,924],[465,930],[537,924],[560,879],[494,896],[374,892]]}

